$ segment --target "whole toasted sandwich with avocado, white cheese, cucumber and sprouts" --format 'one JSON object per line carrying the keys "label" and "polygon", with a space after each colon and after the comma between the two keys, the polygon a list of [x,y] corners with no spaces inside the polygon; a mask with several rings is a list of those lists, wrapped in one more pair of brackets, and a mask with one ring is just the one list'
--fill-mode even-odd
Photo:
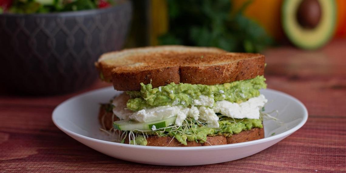
{"label": "whole toasted sandwich with avocado, white cheese, cucumber and sprouts", "polygon": [[124,91],[101,104],[119,142],[207,146],[264,138],[264,56],[218,48],[156,46],[101,55],[100,78]]}

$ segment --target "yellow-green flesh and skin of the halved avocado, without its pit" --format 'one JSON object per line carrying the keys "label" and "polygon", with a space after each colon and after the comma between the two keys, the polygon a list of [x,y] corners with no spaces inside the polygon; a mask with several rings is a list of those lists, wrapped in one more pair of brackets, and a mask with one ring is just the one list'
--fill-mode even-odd
{"label": "yellow-green flesh and skin of the halved avocado, without its pit", "polygon": [[[336,26],[336,5],[333,0],[316,0],[320,7],[320,19],[314,28],[301,24],[298,16],[301,4],[306,0],[284,0],[282,4],[282,27],[290,41],[304,49],[316,49],[328,42],[333,36]],[[313,4],[312,4],[313,5]],[[305,6],[305,4],[304,4]],[[307,8],[309,4],[307,5]],[[309,9],[303,9],[309,10]]]}

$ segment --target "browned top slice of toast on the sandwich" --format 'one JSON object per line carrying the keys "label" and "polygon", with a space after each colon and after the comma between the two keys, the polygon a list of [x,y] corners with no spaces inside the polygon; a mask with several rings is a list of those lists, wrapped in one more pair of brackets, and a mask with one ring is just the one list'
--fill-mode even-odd
{"label": "browned top slice of toast on the sandwich", "polygon": [[264,73],[264,56],[227,53],[218,48],[157,46],[103,54],[95,63],[102,78],[119,91],[140,90],[171,82],[222,84],[255,78]]}

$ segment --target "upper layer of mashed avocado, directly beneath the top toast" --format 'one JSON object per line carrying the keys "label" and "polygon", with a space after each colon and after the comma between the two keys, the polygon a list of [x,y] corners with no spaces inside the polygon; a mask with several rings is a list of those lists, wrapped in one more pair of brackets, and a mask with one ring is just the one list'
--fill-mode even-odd
{"label": "upper layer of mashed avocado, directly beneath the top toast", "polygon": [[153,88],[151,84],[141,83],[140,91],[127,91],[131,99],[126,106],[132,111],[172,105],[173,102],[177,102],[176,105],[190,106],[194,99],[199,99],[200,95],[213,97],[215,101],[243,102],[260,95],[258,90],[266,88],[264,81],[263,76],[257,76],[249,80],[217,85],[171,83],[161,86],[161,91],[159,88]]}

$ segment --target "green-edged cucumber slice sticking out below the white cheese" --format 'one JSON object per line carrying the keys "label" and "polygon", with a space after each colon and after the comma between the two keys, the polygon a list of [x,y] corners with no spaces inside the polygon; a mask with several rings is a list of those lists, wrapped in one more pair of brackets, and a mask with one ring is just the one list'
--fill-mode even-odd
{"label": "green-edged cucumber slice sticking out below the white cheese", "polygon": [[153,126],[155,126],[156,129],[168,127],[175,123],[175,119],[176,116],[152,122],[136,122],[132,120],[121,120],[114,121],[113,127],[118,130],[152,130],[151,128]]}

